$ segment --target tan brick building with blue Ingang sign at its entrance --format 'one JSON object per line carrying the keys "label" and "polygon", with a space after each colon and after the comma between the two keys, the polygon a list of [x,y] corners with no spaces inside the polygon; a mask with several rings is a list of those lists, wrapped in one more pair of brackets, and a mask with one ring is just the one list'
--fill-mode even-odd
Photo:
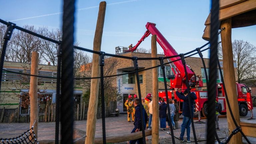
{"label": "tan brick building with blue Ingang sign at its entrance", "polygon": [[[148,53],[135,53],[135,52],[129,52],[129,53],[125,53],[122,55],[128,56],[128,57],[135,56],[135,57],[139,57],[139,58],[151,57],[151,54],[148,54]],[[158,55],[158,57],[160,57],[160,56],[164,57],[164,55]],[[107,64],[112,59],[117,59],[117,61],[118,61],[113,70],[116,73],[113,73],[112,75],[134,71],[134,65],[133,65],[132,60],[111,57],[111,58],[107,58],[105,60],[105,64]],[[201,59],[196,58],[196,57],[189,57],[189,58],[186,58],[185,60],[186,60],[187,65],[189,65],[193,69],[193,71],[195,72],[196,75],[199,75],[199,77],[203,80],[204,86],[206,86],[204,69],[203,69],[203,64],[202,64]],[[209,65],[208,65],[209,59],[204,59],[204,60],[205,60],[207,72],[209,72]],[[168,61],[165,60],[164,62],[167,63]],[[222,66],[221,60],[220,60],[220,63]],[[160,62],[158,62],[158,65],[160,65]],[[151,60],[139,60],[138,66],[139,66],[139,70],[143,70],[143,69],[152,67],[152,63],[151,63]],[[234,62],[234,67],[235,67],[235,73],[236,73],[236,79],[237,79],[237,70],[236,70],[235,62]],[[166,65],[165,70],[166,70],[166,75],[173,74],[173,72],[171,71],[170,65]],[[217,83],[221,82],[220,79],[221,78],[220,78],[220,74],[218,71]],[[164,82],[163,81],[164,81],[164,78],[163,78],[163,74],[162,74],[162,69],[160,69],[160,67],[158,67],[159,91],[164,91]],[[167,82],[168,81],[169,80],[167,79]],[[140,83],[140,90],[141,90],[142,97],[145,97],[147,95],[147,93],[152,93],[152,70],[151,69],[139,72],[139,83]],[[121,97],[122,97],[122,101],[117,103],[117,108],[119,108],[120,112],[126,112],[126,107],[124,106],[124,102],[128,98],[128,95],[132,95],[132,96],[134,94],[138,95],[137,80],[136,80],[135,73],[117,76],[116,83],[113,83],[113,85],[115,85],[117,87],[117,90],[121,94]],[[206,87],[202,88],[202,90],[206,90],[206,89],[207,89]]]}

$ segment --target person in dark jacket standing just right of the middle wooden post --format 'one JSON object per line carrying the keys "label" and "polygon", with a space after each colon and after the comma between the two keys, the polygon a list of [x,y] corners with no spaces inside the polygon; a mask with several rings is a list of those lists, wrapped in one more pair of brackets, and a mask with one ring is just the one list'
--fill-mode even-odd
{"label": "person in dark jacket standing just right of the middle wooden post", "polygon": [[164,102],[164,98],[161,98],[161,104],[159,105],[159,118],[161,130],[165,130],[166,128],[166,110],[167,104]]}

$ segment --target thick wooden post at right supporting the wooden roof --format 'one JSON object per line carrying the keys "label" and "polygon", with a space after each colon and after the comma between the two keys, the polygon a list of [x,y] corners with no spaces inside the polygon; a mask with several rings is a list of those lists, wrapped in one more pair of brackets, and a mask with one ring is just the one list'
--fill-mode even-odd
{"label": "thick wooden post at right supporting the wooden roof", "polygon": [[[238,125],[240,125],[240,117],[238,110],[238,101],[236,94],[236,79],[234,71],[234,61],[233,61],[233,52],[232,52],[232,41],[231,41],[231,18],[225,19],[221,22],[221,27],[225,29],[221,32],[221,44],[222,44],[222,53],[223,53],[223,75],[224,82],[227,90],[227,96],[229,103],[234,114],[234,118]],[[226,101],[227,105],[227,101]],[[236,128],[230,111],[227,108],[227,121],[228,128],[230,129],[229,134]],[[229,143],[242,144],[242,135],[240,132],[235,134]]]}

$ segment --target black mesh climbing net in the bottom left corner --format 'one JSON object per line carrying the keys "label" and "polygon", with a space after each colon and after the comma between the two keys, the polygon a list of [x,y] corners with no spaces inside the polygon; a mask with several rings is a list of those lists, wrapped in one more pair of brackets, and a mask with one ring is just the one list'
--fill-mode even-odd
{"label": "black mesh climbing net in the bottom left corner", "polygon": [[[36,121],[34,121],[34,124],[35,122]],[[34,133],[34,124],[32,125],[31,129],[15,138],[0,138],[0,144],[39,144]]]}

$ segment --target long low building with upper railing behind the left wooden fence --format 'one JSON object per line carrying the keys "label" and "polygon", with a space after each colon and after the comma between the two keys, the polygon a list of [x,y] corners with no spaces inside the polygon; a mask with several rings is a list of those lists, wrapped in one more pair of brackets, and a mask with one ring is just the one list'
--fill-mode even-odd
{"label": "long low building with upper railing behind the left wooden fence", "polygon": [[[4,62],[2,81],[1,81],[1,97],[0,107],[17,108],[23,102],[21,95],[29,92],[30,76],[17,73],[7,72],[5,70],[30,74],[30,64],[18,62]],[[39,65],[38,75],[47,77],[57,77],[57,66]],[[74,81],[74,101],[82,102],[84,94],[82,81]],[[38,92],[41,95],[40,106],[43,108],[47,101],[56,102],[56,79],[54,78],[38,78]]]}

